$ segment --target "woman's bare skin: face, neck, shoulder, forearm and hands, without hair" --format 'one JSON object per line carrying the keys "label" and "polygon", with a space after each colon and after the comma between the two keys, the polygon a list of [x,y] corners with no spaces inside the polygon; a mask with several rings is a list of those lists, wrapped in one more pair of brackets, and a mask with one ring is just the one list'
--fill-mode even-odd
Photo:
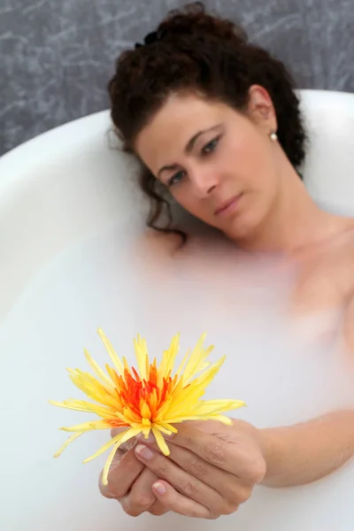
{"label": "woman's bare skin: face, neck, shoulder, forearm and hands, without hair", "polygon": [[[135,150],[196,218],[250,253],[290,258],[298,273],[295,311],[342,307],[342,340],[354,350],[354,220],[313,203],[281,144],[271,139],[276,130],[271,98],[258,85],[250,87],[247,112],[174,94],[142,129]],[[220,216],[220,205],[233,197],[234,207]],[[102,494],[132,516],[230,514],[259,483],[300,485],[346,463],[354,455],[354,411],[266,430],[239,420],[231,427],[186,423],[170,446],[168,458],[149,441],[119,450]]]}

